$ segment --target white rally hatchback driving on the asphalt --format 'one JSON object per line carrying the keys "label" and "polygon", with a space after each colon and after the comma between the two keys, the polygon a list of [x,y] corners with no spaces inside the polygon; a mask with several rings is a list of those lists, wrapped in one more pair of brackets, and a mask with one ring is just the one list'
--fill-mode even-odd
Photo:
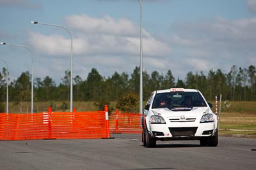
{"label": "white rally hatchback driving on the asphalt", "polygon": [[142,141],[200,140],[201,146],[218,145],[218,118],[199,90],[172,88],[152,92],[141,119]]}

